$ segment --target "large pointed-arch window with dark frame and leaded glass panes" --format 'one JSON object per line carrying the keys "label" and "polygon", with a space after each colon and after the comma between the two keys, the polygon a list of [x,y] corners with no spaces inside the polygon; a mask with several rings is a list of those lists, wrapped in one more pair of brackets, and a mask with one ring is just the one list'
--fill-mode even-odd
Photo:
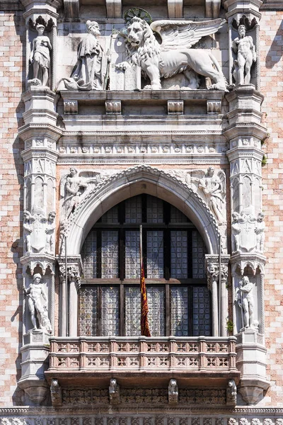
{"label": "large pointed-arch window with dark frame and leaded glass panes", "polygon": [[140,335],[141,224],[151,336],[211,335],[202,237],[180,210],[149,195],[115,205],[86,237],[80,335]]}

